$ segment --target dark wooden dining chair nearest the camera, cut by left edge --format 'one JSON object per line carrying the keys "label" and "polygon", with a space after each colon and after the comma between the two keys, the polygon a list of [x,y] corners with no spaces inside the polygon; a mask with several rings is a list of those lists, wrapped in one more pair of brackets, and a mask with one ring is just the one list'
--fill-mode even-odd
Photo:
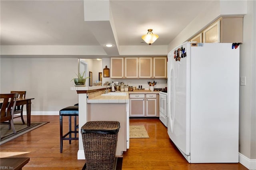
{"label": "dark wooden dining chair nearest the camera, cut by left edge", "polygon": [[13,112],[14,108],[16,106],[16,98],[18,94],[17,93],[11,93],[11,94],[0,94],[1,98],[1,116],[0,116],[0,122],[6,122],[9,121],[12,127],[12,131],[14,134],[16,134],[16,130],[13,124]]}

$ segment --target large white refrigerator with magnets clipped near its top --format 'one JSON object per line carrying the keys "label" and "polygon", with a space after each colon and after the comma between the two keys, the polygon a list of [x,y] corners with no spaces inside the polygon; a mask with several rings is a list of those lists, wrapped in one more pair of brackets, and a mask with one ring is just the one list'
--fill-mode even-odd
{"label": "large white refrigerator with magnets clipped near its top", "polygon": [[239,46],[185,42],[168,54],[168,135],[188,162],[238,162],[238,112]]}

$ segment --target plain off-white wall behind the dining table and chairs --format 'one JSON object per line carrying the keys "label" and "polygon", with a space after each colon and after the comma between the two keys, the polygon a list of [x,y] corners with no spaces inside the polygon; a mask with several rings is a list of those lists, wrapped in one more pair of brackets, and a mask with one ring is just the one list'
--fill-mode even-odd
{"label": "plain off-white wall behind the dining table and chairs", "polygon": [[[78,102],[70,80],[78,72],[77,58],[1,58],[0,92],[26,91],[32,113],[58,114]],[[24,108],[26,110],[26,108]]]}

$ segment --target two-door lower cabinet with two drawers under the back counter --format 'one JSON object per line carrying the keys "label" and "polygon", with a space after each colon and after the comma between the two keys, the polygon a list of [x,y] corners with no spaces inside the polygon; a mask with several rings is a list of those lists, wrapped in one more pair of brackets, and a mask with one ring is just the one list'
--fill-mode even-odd
{"label": "two-door lower cabinet with two drawers under the back counter", "polygon": [[157,117],[158,103],[158,94],[130,94],[130,117]]}

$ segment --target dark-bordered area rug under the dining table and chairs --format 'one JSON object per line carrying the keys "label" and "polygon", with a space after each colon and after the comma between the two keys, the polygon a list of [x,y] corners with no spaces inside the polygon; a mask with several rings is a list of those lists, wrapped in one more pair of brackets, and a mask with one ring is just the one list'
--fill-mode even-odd
{"label": "dark-bordered area rug under the dining table and chairs", "polygon": [[43,126],[44,124],[47,124],[49,122],[31,122],[31,126],[27,126],[27,124],[22,124],[22,122],[14,122],[14,127],[17,132],[17,134],[14,134],[12,132],[12,128],[9,130],[8,124],[1,124],[0,125],[0,134],[1,134],[1,141],[0,145],[13,140],[17,138],[18,136],[21,136],[22,134],[25,134],[27,132],[30,132],[36,128],[39,128],[40,126]]}

